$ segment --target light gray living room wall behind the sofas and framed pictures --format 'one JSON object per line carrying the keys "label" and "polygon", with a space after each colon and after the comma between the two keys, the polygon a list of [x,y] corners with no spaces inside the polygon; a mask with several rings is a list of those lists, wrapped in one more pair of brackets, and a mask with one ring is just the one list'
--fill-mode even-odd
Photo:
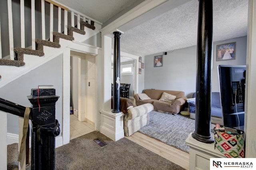
{"label": "light gray living room wall behind the sofas and framed pictures", "polygon": [[[218,65],[245,65],[247,37],[238,37],[213,44],[212,92],[219,92]],[[216,45],[236,42],[236,59],[216,61]],[[167,51],[163,55],[163,66],[154,67],[154,56],[145,56],[144,89],[180,90],[185,96],[192,97],[196,91],[196,46]],[[142,69],[143,71],[143,69]]]}

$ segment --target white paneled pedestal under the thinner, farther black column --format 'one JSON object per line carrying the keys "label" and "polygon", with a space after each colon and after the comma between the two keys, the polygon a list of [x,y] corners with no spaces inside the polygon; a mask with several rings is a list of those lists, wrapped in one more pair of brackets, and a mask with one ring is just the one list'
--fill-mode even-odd
{"label": "white paneled pedestal under the thinner, farther black column", "polygon": [[112,113],[112,111],[100,111],[100,133],[113,141],[124,137],[124,113]]}

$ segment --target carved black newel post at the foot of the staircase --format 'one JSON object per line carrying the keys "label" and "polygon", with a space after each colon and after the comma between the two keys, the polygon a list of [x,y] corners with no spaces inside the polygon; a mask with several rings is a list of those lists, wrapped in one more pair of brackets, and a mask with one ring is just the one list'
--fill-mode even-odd
{"label": "carved black newel post at the foot of the staircase", "polygon": [[55,103],[58,98],[54,88],[34,88],[31,96],[28,96],[32,104],[32,170],[55,170],[55,136],[60,133],[58,121],[55,120]]}

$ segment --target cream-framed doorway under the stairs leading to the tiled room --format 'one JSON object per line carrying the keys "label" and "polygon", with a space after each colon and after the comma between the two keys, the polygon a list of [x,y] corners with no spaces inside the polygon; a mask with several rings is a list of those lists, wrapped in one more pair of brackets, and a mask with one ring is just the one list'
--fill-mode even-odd
{"label": "cream-framed doorway under the stairs leading to the tiled room", "polygon": [[[96,56],[76,51],[70,52],[70,139],[74,133],[84,134],[84,125],[95,130],[96,121]],[[78,121],[75,121],[77,119]],[[74,122],[71,122],[74,121]],[[73,123],[78,125],[73,125]],[[76,129],[76,127],[78,129]],[[76,132],[71,133],[71,131]],[[83,131],[82,131],[83,130]],[[89,132],[89,133],[90,133]],[[78,135],[78,134],[76,134]],[[79,136],[79,135],[78,135]]]}

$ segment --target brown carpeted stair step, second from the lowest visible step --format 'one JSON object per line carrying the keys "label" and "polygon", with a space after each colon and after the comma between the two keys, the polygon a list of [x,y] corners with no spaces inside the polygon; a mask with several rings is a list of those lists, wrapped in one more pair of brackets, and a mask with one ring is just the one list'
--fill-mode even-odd
{"label": "brown carpeted stair step, second from the lowest visible step", "polygon": [[24,54],[37,55],[39,57],[44,56],[44,52],[42,52],[42,51],[26,49],[26,48],[21,48],[21,47],[15,47],[13,49],[13,51],[15,52],[15,56],[16,56],[17,60],[20,60],[20,61],[24,60]]}

